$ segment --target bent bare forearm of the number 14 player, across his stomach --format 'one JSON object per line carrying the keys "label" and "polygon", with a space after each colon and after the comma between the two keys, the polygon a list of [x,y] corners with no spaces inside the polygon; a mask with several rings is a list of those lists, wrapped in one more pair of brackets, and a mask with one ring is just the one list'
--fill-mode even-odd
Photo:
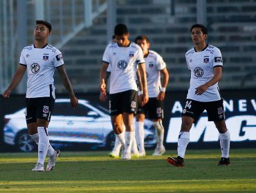
{"label": "bent bare forearm of the number 14 player, across his stomach", "polygon": [[211,85],[214,85],[215,83],[219,82],[222,77],[222,66],[216,66],[213,68],[213,77],[208,81],[207,83],[199,86],[196,88],[196,91],[194,94],[201,95],[203,92],[205,92]]}

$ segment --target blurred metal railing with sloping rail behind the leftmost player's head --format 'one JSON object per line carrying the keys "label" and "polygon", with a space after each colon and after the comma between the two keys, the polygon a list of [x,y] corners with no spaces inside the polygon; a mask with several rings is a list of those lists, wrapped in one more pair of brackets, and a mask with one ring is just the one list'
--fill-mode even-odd
{"label": "blurred metal railing with sloping rail behind the leftmost player's head", "polygon": [[[3,92],[10,83],[21,49],[33,43],[31,34],[36,19],[44,19],[53,25],[49,43],[61,48],[80,30],[89,28],[93,19],[106,9],[107,0],[1,0],[0,91]],[[24,26],[26,28],[22,28]],[[16,92],[24,93],[25,85],[21,83]]]}

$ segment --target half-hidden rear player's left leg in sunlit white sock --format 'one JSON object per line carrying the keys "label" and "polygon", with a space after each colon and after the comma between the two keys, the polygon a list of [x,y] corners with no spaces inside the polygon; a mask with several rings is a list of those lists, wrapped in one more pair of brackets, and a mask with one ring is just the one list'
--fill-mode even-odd
{"label": "half-hidden rear player's left leg in sunlit white sock", "polygon": [[138,109],[138,112],[136,114],[135,136],[136,136],[136,141],[137,141],[137,144],[138,144],[139,155],[140,156],[146,156],[146,152],[145,152],[145,148],[144,148],[144,138],[145,138],[144,120],[145,120],[145,114],[140,113],[139,109]]}

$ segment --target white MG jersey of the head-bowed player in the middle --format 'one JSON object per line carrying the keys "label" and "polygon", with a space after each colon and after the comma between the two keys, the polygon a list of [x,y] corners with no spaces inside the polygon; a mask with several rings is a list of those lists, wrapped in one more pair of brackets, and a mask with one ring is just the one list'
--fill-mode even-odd
{"label": "white MG jersey of the head-bowed player in the middle", "polygon": [[102,61],[111,65],[110,94],[138,90],[136,84],[137,65],[145,63],[145,60],[143,50],[136,43],[131,42],[128,47],[110,43],[104,51]]}

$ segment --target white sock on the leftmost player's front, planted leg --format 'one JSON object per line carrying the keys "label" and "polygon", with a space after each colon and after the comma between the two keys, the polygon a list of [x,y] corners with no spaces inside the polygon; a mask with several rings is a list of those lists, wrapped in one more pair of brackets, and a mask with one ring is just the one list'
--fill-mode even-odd
{"label": "white sock on the leftmost player's front, planted leg", "polygon": [[38,141],[38,161],[37,163],[44,164],[46,159],[46,154],[50,145],[48,128],[38,127],[37,128],[39,141]]}

